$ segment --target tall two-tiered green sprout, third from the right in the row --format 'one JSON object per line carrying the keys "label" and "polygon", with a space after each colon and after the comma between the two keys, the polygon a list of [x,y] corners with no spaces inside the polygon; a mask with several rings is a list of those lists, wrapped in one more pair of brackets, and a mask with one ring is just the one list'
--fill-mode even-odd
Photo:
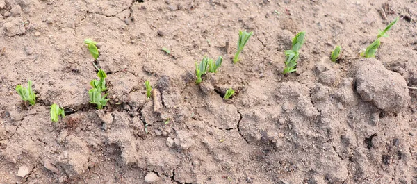
{"label": "tall two-tiered green sprout, third from the right in the row", "polygon": [[287,73],[292,73],[297,71],[297,60],[300,56],[300,48],[302,47],[302,44],[304,43],[304,37],[305,37],[305,32],[302,31],[300,33],[298,33],[297,35],[295,35],[295,37],[293,38],[293,47],[291,48],[291,50],[286,50],[284,51],[285,54],[285,68],[284,68],[284,72],[282,72],[283,74],[287,74]]}

